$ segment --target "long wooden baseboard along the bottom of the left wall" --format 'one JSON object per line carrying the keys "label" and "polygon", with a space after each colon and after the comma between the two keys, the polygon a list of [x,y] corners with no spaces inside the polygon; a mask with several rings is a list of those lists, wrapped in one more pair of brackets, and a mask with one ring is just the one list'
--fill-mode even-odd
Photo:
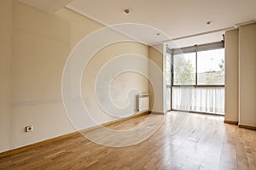
{"label": "long wooden baseboard along the bottom of the left wall", "polygon": [[0,153],[0,158],[6,157],[6,156],[12,156],[12,155],[15,155],[17,153],[20,153],[20,152],[23,152],[23,151],[26,151],[26,150],[31,150],[31,149],[37,148],[39,146],[43,146],[45,144],[50,144],[50,143],[53,143],[55,141],[59,141],[61,139],[67,139],[67,138],[73,137],[75,135],[78,135],[80,133],[86,133],[86,132],[89,132],[89,131],[92,131],[92,130],[96,130],[97,128],[100,128],[100,127],[108,127],[108,126],[113,125],[117,122],[124,122],[124,121],[127,121],[129,119],[135,118],[137,116],[146,115],[148,113],[149,113],[149,111],[145,111],[145,112],[133,115],[133,116],[128,116],[128,117],[121,118],[119,120],[115,120],[115,121],[112,121],[112,122],[103,123],[102,125],[98,125],[96,127],[89,127],[89,128],[84,129],[84,130],[81,130],[81,131],[77,131],[77,132],[73,132],[73,133],[67,133],[67,134],[55,137],[53,139],[47,139],[47,140],[44,140],[44,141],[41,141],[41,142],[38,142],[38,143],[35,143],[35,144],[29,144],[29,145],[26,145],[26,146],[23,146],[23,147],[14,149],[14,150],[7,150],[7,151],[4,151],[4,152]]}

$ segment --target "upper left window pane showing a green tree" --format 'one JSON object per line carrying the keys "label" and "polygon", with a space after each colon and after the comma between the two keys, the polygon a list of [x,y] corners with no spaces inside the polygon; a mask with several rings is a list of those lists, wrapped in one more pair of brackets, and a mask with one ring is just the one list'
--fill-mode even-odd
{"label": "upper left window pane showing a green tree", "polygon": [[195,53],[173,56],[173,84],[195,85]]}

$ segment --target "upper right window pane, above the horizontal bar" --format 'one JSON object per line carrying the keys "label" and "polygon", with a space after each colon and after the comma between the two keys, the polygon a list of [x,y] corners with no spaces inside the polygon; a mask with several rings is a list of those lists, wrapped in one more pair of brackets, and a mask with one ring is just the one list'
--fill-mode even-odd
{"label": "upper right window pane, above the horizontal bar", "polygon": [[224,85],[224,48],[197,53],[197,84]]}

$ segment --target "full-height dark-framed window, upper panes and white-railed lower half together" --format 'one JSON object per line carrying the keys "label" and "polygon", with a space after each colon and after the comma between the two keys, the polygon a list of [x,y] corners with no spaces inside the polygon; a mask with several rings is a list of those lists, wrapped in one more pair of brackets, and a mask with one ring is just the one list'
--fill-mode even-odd
{"label": "full-height dark-framed window, upper panes and white-railed lower half together", "polygon": [[171,109],[224,114],[224,42],[181,49],[171,54]]}

